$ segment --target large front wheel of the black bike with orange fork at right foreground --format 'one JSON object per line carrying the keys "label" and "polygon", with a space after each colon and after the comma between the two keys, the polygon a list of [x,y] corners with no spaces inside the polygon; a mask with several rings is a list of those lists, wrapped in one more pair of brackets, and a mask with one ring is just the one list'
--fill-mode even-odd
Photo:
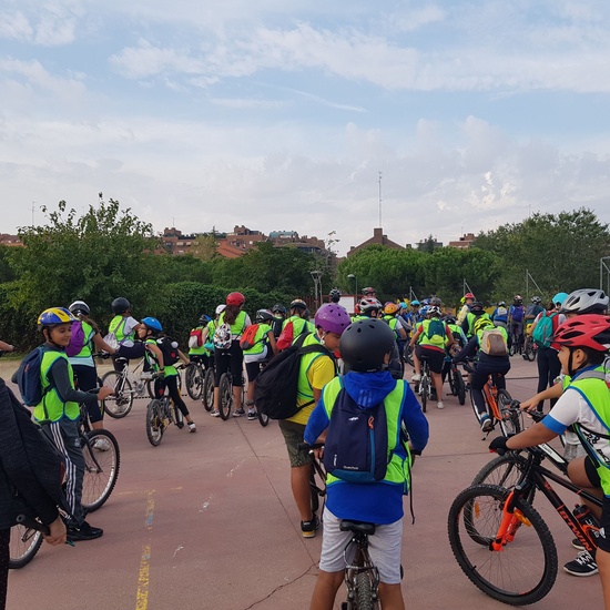
{"label": "large front wheel of the black bike with orange fork at right foreground", "polygon": [[465,489],[449,509],[447,529],[454,556],[476,587],[504,603],[525,606],[551,590],[557,578],[557,548],[538,511],[517,500],[512,540],[500,551],[491,550],[508,494],[494,485]]}

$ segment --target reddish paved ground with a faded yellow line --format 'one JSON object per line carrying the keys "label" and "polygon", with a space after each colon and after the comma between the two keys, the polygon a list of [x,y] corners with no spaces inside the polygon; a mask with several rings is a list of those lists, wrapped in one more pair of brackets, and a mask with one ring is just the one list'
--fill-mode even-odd
{"label": "reddish paved ground with a faded yellow line", "polygon": [[[536,364],[512,362],[508,388],[523,399],[536,386]],[[4,378],[17,368],[1,366]],[[172,428],[156,448],[146,439],[144,400],[126,418],[108,420],[122,465],[114,494],[89,519],[104,528],[103,538],[43,546],[32,563],[11,572],[10,610],[308,608],[321,538],[301,537],[277,426],[222,421],[187,404],[199,433]],[[448,508],[491,456],[468,403],[460,407],[448,397],[445,405],[427,414],[430,444],[414,474],[416,522],[406,518],[403,551],[407,607],[501,608],[467,580],[448,545]],[[543,498],[537,508],[560,562],[572,559],[568,529]],[[536,608],[577,606],[601,606],[598,577],[560,572]]]}

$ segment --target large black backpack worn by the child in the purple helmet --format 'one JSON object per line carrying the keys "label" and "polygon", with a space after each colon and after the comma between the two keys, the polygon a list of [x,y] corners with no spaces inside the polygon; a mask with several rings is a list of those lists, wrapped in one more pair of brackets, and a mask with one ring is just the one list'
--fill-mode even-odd
{"label": "large black backpack worn by the child in the purple helmet", "polygon": [[272,419],[287,419],[303,407],[314,404],[314,400],[309,400],[304,405],[296,406],[302,356],[318,352],[335,362],[333,354],[322,344],[316,343],[303,347],[308,334],[303,333],[294,345],[274,356],[256,377],[254,389],[256,408]]}

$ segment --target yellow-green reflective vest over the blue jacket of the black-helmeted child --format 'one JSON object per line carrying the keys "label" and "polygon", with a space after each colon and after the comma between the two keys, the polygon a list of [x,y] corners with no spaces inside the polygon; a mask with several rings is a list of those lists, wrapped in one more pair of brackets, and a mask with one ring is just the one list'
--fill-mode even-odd
{"label": "yellow-green reflective vest over the blue jacket of the black-helmeted child", "polygon": [[[405,398],[405,382],[396,382],[394,389],[384,398],[384,408],[386,409],[387,419],[387,448],[388,454],[392,455],[392,459],[387,465],[386,476],[383,480],[377,482],[401,485],[405,488],[405,492],[407,492],[410,479],[407,467],[407,451],[400,444],[400,420],[403,415],[403,400]],[[340,377],[335,377],[332,382],[328,382],[322,390],[322,398],[328,420],[331,420],[333,408],[340,389],[342,379]],[[333,475],[326,475],[326,485],[340,482],[346,481],[333,477]]]}

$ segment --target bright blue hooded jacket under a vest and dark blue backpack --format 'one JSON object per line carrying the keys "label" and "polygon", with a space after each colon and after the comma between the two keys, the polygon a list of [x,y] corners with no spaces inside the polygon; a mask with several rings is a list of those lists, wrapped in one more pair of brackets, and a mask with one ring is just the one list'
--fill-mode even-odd
{"label": "bright blue hooded jacket under a vest and dark blue backpack", "polygon": [[[405,396],[401,405],[403,417],[414,449],[421,451],[428,443],[428,420],[410,386],[405,383]],[[343,385],[349,396],[362,407],[378,405],[395,387],[396,380],[387,372],[349,372],[343,378]],[[305,428],[305,443],[312,445],[328,427],[329,419],[323,399],[313,410]],[[355,519],[372,523],[393,523],[403,517],[403,489],[400,486],[382,481],[353,484],[342,481],[327,489],[326,506],[339,519]]]}

